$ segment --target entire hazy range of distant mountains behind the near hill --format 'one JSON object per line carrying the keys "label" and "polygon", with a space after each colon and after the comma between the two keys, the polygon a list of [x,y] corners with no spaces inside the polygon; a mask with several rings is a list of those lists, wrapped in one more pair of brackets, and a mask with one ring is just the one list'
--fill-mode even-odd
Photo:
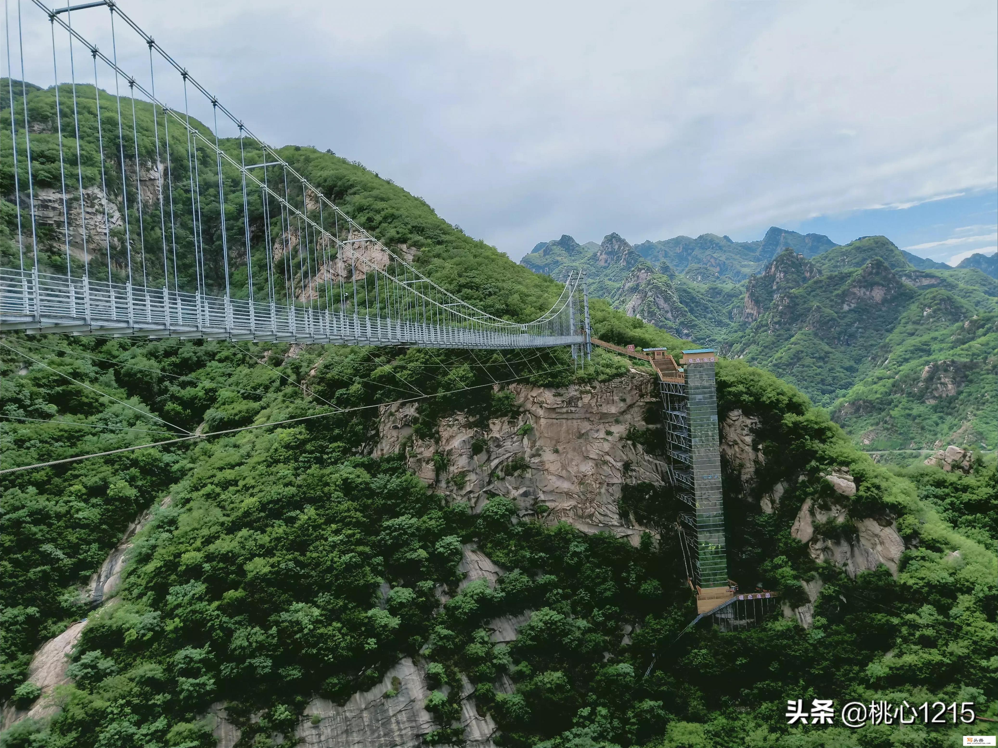
{"label": "entire hazy range of distant mountains behind the near hill", "polygon": [[838,245],[775,226],[749,242],[563,235],[522,260],[560,278],[585,270],[591,296],[769,369],[869,449],[998,446],[996,261],[953,268],[884,236]]}

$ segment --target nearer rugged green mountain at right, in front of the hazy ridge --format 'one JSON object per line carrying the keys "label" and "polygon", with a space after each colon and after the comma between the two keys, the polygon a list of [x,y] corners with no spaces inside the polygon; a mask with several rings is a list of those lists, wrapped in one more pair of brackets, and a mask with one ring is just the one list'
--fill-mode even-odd
{"label": "nearer rugged green mountain at right, in front of the hazy ridge", "polygon": [[870,449],[994,449],[998,284],[963,272],[911,268],[882,236],[813,261],[784,252],[749,281],[749,327],[728,341]]}

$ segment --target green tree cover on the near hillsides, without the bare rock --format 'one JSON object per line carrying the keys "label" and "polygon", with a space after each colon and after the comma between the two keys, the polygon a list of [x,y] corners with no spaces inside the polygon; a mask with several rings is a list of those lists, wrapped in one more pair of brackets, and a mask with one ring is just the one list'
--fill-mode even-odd
{"label": "green tree cover on the near hillsides, without the bare rock", "polygon": [[[31,94],[40,122],[46,111],[55,116],[52,99],[51,90]],[[147,139],[152,113],[137,109]],[[9,110],[0,126],[5,118],[6,154]],[[96,179],[94,130],[82,132],[88,181]],[[51,123],[39,126],[40,144],[46,135]],[[140,146],[144,157],[155,150],[148,140]],[[235,153],[239,143],[226,147]],[[51,150],[32,153],[38,173],[47,164],[51,174]],[[361,166],[306,148],[281,153],[380,240],[405,244],[430,277],[488,311],[530,319],[557,296],[556,280],[517,266]],[[5,262],[18,256],[11,183],[0,169]],[[156,214],[153,202],[149,209]],[[157,223],[147,236],[151,255],[162,238]],[[273,226],[253,228],[257,240],[279,236]],[[43,229],[45,261],[54,265],[58,235]],[[860,282],[871,262],[894,272],[875,259],[834,272]],[[804,287],[828,277],[806,275],[797,278]],[[957,305],[977,298],[941,283],[931,290]],[[601,338],[683,345],[608,301],[591,310]],[[465,681],[475,713],[494,720],[504,745],[524,748],[942,746],[962,734],[919,724],[789,728],[787,698],[972,701],[998,714],[993,461],[977,460],[967,475],[889,471],[793,386],[745,362],[722,361],[718,373],[721,421],[737,413],[752,423],[759,456],[756,465],[726,465],[732,574],[746,588],[779,590],[788,606],[811,605],[813,619],[809,628],[777,616],[751,631],[695,628],[677,639],[696,605],[672,541],[681,506],[670,492],[628,486],[621,512],[655,531],[634,547],[547,523],[539,511],[522,511],[518,497],[495,496],[472,514],[427,491],[404,454],[370,457],[378,404],[422,398],[415,428],[432,438],[439,419],[456,411],[514,417],[497,380],[581,389],[625,373],[624,359],[597,351],[580,371],[562,349],[20,334],[2,343],[4,468],[169,440],[181,429],[260,426],[0,476],[0,689],[9,707],[39,698],[25,680],[38,646],[89,616],[72,653],[73,682],[58,695],[62,710],[51,722],[18,722],[0,738],[5,747],[208,748],[216,740],[207,715],[219,703],[242,728],[241,745],[286,745],[309,728],[301,715],[313,696],[342,703],[403,656],[425,666],[435,689],[424,704],[435,728],[415,737],[425,744],[464,740]],[[650,409],[648,428],[629,438],[654,451],[657,420]],[[832,469],[849,472],[854,496],[832,491]],[[767,513],[761,499],[777,485]],[[906,549],[896,576],[886,566],[853,576],[833,559],[815,559],[792,530],[808,502],[840,510],[817,528],[829,543],[856,542],[857,523],[896,528]],[[147,509],[152,520],[135,539],[121,591],[90,610],[81,587]],[[458,588],[469,545],[500,566],[495,585]],[[528,621],[518,636],[494,643],[490,621],[518,614]]]}

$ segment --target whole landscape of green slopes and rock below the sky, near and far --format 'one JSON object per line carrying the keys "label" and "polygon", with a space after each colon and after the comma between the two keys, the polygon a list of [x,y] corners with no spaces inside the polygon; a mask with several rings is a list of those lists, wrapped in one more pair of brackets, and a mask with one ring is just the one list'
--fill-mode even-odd
{"label": "whole landscape of green slopes and rock below the sky, near and far", "polygon": [[[138,215],[115,183],[101,222],[80,91],[85,227],[110,228],[117,251]],[[27,109],[32,145],[48,146],[32,152],[41,263],[58,269],[71,190],[51,169],[54,93],[32,87]],[[126,148],[108,165],[145,197],[152,247],[156,110],[135,104],[139,164]],[[244,146],[261,154],[220,148],[238,160]],[[0,476],[4,748],[871,748],[962,729],[786,725],[786,700],[812,694],[998,717],[988,258],[947,269],[885,237],[773,227],[746,242],[562,236],[517,264],[356,162],[278,152],[484,313],[529,323],[585,270],[594,336],[718,348],[729,576],[778,605],[753,627],[691,625],[690,508],[647,361],[7,332],[3,468],[30,469]],[[0,172],[14,266],[25,216]],[[209,176],[239,189],[235,171]],[[308,240],[256,214],[255,264],[226,255],[225,213],[206,207],[211,283],[224,259],[241,278],[279,272]],[[79,263],[75,208],[69,222]],[[386,262],[370,242],[361,254]],[[197,272],[182,256],[181,282]],[[289,296],[316,295],[315,277],[290,278]]]}

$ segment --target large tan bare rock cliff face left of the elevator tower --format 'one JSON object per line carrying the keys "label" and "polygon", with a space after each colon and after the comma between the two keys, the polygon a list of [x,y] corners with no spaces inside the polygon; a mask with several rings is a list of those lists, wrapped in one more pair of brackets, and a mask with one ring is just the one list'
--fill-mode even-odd
{"label": "large tan bare rock cliff face left of the elevator tower", "polygon": [[385,406],[374,455],[403,451],[429,487],[474,511],[489,495],[505,496],[523,516],[637,543],[644,529],[625,522],[617,502],[626,483],[663,484],[665,464],[626,439],[629,427],[644,427],[656,386],[637,371],[563,389],[516,384],[510,389],[517,417],[485,421],[458,413],[440,422],[438,440],[414,438],[414,404]]}

